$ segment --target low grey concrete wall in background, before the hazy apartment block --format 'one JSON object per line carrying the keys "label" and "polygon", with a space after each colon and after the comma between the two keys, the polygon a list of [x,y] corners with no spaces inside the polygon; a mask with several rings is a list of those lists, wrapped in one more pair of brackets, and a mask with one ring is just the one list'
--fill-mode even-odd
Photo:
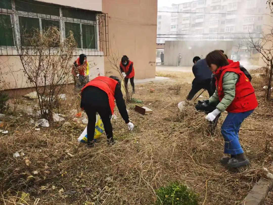
{"label": "low grey concrete wall in background, before the hazy apartment block", "polygon": [[164,65],[177,66],[177,57],[182,55],[180,66],[192,66],[194,56],[205,58],[213,50],[222,49],[230,57],[232,43],[230,41],[165,41]]}

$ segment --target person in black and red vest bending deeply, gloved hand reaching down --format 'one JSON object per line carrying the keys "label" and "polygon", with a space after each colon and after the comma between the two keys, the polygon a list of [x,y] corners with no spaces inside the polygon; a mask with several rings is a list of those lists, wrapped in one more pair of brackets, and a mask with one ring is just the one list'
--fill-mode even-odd
{"label": "person in black and red vest bending deeply, gloved hand reaching down", "polygon": [[113,128],[111,124],[111,116],[114,114],[115,100],[118,111],[127,124],[128,129],[133,130],[134,125],[129,121],[118,77],[96,77],[82,88],[81,94],[81,108],[85,110],[88,117],[87,140],[89,147],[93,147],[94,145],[93,139],[96,124],[96,112],[99,113],[102,119],[107,142],[110,145],[116,142],[116,140],[113,139]]}

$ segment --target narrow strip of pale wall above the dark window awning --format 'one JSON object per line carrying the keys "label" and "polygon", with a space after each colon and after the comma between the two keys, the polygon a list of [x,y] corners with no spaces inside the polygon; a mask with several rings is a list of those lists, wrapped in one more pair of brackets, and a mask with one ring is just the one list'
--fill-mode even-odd
{"label": "narrow strip of pale wall above the dark window awning", "polygon": [[101,0],[37,0],[46,3],[59,4],[64,6],[70,6],[75,8],[82,8],[93,11],[102,11],[102,1]]}

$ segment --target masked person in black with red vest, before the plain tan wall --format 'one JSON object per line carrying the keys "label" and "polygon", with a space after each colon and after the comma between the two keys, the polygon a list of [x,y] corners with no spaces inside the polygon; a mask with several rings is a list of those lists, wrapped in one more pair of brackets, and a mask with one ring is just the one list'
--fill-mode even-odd
{"label": "masked person in black with red vest, before the plain tan wall", "polygon": [[125,87],[127,88],[128,80],[130,79],[130,83],[133,88],[133,93],[135,93],[135,83],[134,83],[135,69],[133,64],[134,63],[130,61],[126,55],[123,55],[120,62],[120,71],[124,77]]}

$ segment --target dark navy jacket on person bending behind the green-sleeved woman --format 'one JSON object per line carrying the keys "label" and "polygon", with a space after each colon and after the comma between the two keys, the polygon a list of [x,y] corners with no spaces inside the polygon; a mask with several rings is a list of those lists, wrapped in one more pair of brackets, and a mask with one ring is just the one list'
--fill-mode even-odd
{"label": "dark navy jacket on person bending behind the green-sleeved woman", "polygon": [[192,84],[200,83],[204,80],[211,79],[212,72],[207,65],[206,59],[198,60],[197,63],[192,66],[192,72],[195,77],[192,81]]}

